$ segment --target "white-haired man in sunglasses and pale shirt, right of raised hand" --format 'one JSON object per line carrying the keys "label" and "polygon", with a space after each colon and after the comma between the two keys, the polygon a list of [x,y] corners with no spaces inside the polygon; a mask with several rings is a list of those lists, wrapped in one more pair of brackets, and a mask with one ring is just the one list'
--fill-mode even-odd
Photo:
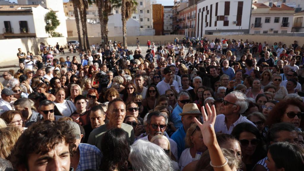
{"label": "white-haired man in sunglasses and pale shirt, right of raised hand", "polygon": [[238,91],[233,91],[224,97],[219,109],[223,114],[216,116],[214,124],[216,133],[231,134],[233,128],[243,122],[248,122],[256,127],[255,124],[241,115],[248,108],[246,99],[247,97]]}

